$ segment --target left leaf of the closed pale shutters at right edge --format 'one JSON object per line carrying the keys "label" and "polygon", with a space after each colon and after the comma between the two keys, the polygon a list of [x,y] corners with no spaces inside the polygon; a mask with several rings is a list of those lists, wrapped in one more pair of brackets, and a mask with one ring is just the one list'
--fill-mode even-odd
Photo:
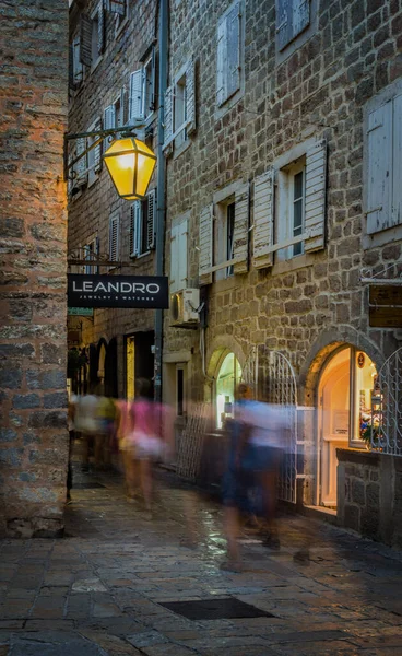
{"label": "left leaf of the closed pale shutters at right edge", "polygon": [[[392,102],[368,116],[367,233],[391,225]],[[398,181],[401,185],[401,180]]]}

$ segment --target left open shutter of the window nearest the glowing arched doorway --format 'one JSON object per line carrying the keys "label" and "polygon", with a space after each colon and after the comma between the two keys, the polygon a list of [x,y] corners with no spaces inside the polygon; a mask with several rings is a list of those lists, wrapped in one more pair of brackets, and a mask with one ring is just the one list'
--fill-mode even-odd
{"label": "left open shutter of the window nearest the glowing arched doorway", "polygon": [[273,254],[269,253],[273,243],[273,187],[274,169],[270,167],[255,180],[253,213],[253,266],[256,269],[271,267]]}

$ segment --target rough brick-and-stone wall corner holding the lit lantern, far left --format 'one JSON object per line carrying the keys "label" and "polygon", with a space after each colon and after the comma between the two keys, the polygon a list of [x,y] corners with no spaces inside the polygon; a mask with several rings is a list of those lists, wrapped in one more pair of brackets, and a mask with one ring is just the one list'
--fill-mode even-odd
{"label": "rough brick-and-stone wall corner holding the lit lantern, far left", "polygon": [[68,3],[1,5],[0,532],[61,531],[68,461]]}

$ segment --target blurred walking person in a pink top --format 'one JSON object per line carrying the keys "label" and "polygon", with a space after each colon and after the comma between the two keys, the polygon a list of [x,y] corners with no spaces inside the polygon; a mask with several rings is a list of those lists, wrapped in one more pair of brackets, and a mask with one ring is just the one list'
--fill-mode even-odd
{"label": "blurred walking person in a pink top", "polygon": [[153,465],[166,457],[172,444],[173,426],[166,406],[153,401],[152,385],[146,378],[135,380],[135,400],[131,407],[132,433],[128,436],[139,460],[140,484],[145,509],[151,513],[153,500]]}

